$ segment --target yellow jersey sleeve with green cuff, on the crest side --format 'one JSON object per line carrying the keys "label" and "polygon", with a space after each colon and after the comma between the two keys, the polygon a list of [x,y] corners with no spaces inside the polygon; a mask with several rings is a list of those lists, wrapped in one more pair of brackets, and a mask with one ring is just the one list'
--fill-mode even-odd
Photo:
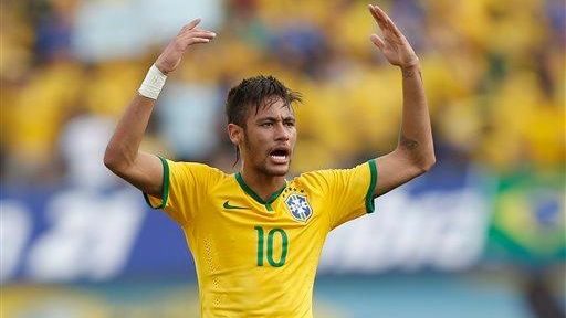
{"label": "yellow jersey sleeve with green cuff, on the crest side", "polygon": [[324,213],[331,229],[366,213],[373,213],[377,187],[377,167],[369,160],[352,169],[332,169],[310,172],[312,184],[325,197]]}

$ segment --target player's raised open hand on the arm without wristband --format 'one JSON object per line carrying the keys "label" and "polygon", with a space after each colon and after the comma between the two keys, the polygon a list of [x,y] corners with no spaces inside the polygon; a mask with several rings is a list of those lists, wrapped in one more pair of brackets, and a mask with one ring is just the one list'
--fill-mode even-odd
{"label": "player's raised open hand on the arm without wristband", "polygon": [[369,4],[368,10],[384,33],[382,38],[371,34],[369,40],[384,52],[387,61],[401,68],[417,65],[419,57],[417,57],[411,44],[409,44],[409,41],[407,41],[401,31],[397,29],[394,21],[377,6]]}

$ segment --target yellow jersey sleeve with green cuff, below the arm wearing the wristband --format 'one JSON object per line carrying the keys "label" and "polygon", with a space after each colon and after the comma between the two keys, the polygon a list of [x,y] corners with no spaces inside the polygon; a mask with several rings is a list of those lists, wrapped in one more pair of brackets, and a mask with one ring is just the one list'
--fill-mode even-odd
{"label": "yellow jersey sleeve with green cuff, below the arm wearing the wristband", "polygon": [[147,204],[164,210],[180,225],[188,224],[200,210],[208,189],[222,172],[207,165],[176,162],[159,157],[164,167],[161,199],[144,193]]}

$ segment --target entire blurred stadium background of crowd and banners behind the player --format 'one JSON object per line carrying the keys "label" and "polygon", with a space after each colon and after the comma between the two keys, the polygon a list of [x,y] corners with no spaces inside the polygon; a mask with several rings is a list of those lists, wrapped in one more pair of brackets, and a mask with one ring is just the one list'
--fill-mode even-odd
{"label": "entire blurred stadium background of crowd and banners behind the player", "polygon": [[[218,36],[169,76],[145,150],[234,172],[223,102],[256,74],[304,95],[292,176],[392,150],[400,72],[368,41],[367,4],[2,1],[1,317],[197,317],[180,229],[102,163],[196,17]],[[329,235],[316,317],[564,317],[564,1],[377,4],[421,59],[438,163]]]}

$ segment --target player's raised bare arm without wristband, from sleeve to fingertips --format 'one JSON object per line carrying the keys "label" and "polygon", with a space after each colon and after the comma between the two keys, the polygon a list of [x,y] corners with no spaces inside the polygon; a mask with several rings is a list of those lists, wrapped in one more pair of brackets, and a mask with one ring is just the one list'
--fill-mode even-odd
{"label": "player's raised bare arm without wristband, from sleeve to fingertips", "polygon": [[424,173],[434,165],[434,146],[422,86],[419,59],[405,35],[377,6],[369,12],[381,29],[382,38],[371,34],[371,42],[402,77],[402,119],[397,148],[377,158],[378,181],[374,197],[381,195]]}

